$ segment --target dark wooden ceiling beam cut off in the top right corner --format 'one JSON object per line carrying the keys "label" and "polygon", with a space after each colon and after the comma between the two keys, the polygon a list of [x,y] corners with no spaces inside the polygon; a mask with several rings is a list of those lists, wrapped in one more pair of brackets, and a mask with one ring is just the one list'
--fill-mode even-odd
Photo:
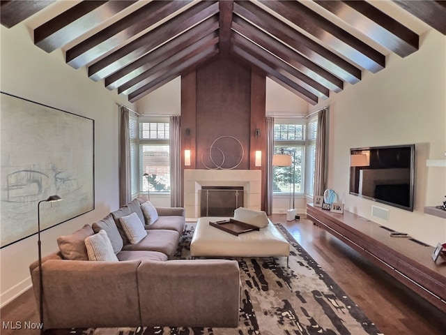
{"label": "dark wooden ceiling beam cut off in the top right corner", "polygon": [[446,1],[393,1],[401,8],[415,15],[415,17],[429,24],[429,26],[440,31],[441,34],[446,35]]}

